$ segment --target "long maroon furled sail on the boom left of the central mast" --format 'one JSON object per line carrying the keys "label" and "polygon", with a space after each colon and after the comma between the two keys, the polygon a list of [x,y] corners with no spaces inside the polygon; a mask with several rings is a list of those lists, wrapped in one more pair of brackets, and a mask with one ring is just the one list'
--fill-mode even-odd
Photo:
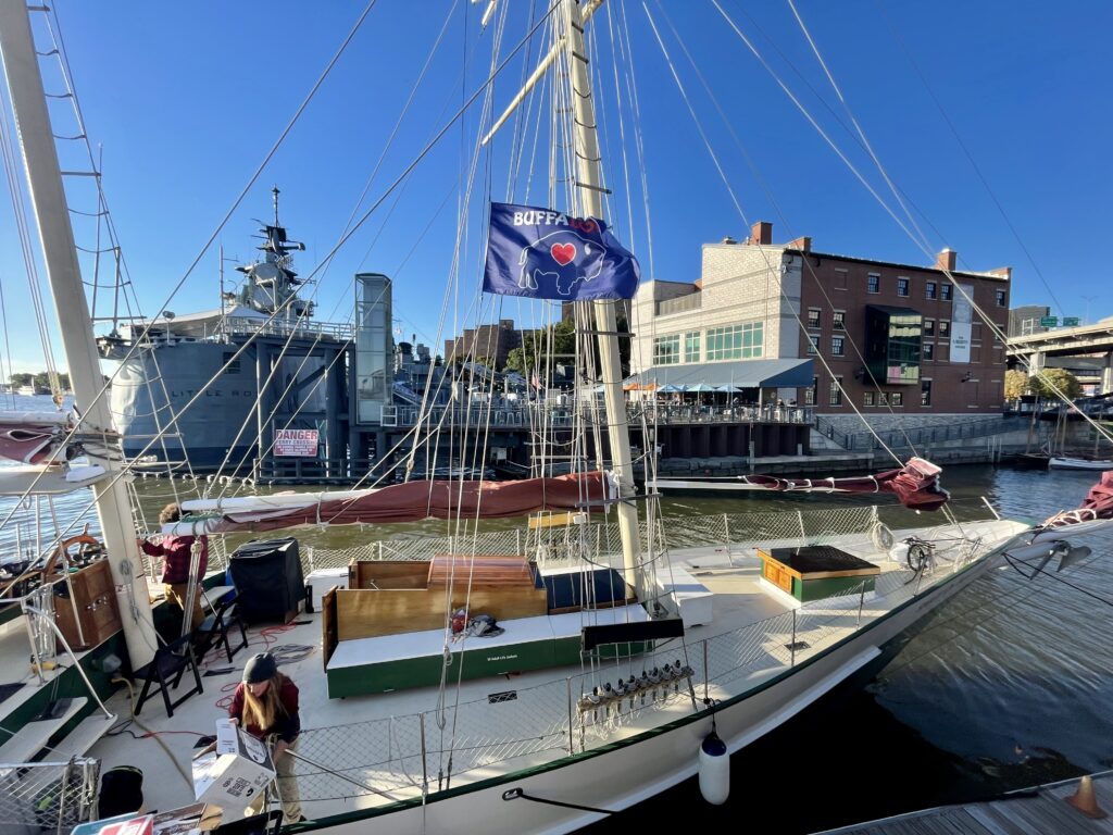
{"label": "long maroon furled sail on the boom left of the central mast", "polygon": [[329,499],[311,494],[296,508],[219,510],[186,515],[164,533],[273,531],[316,524],[386,524],[422,519],[505,519],[536,511],[600,509],[611,497],[604,473],[575,473],[523,481],[411,481]]}

